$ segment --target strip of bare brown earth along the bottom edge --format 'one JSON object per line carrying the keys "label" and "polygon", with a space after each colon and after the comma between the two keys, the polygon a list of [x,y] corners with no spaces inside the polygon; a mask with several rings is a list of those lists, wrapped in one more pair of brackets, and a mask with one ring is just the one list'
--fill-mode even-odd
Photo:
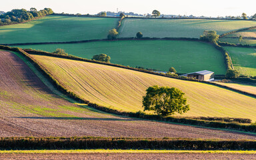
{"label": "strip of bare brown earth along the bottom edge", "polygon": [[253,154],[215,153],[32,153],[0,154],[0,159],[256,159]]}

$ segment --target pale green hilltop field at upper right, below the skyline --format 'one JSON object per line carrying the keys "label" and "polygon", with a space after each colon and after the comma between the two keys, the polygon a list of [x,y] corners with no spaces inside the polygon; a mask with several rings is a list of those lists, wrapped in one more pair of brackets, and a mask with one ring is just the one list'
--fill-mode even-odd
{"label": "pale green hilltop field at upper right, below the skyline", "polygon": [[221,35],[229,31],[256,26],[256,21],[207,19],[124,19],[119,37],[135,37],[141,31],[144,37],[199,38],[205,30]]}

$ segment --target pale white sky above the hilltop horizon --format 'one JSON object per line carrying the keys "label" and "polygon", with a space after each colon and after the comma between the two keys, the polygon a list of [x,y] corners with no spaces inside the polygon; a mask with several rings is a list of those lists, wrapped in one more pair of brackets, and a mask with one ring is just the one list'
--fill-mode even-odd
{"label": "pale white sky above the hilltop horizon", "polygon": [[55,13],[81,13],[97,14],[100,11],[119,11],[134,13],[152,13],[154,9],[165,15],[195,15],[217,17],[226,15],[237,16],[243,12],[247,15],[256,13],[255,0],[11,0],[0,5],[0,11],[11,9],[27,9],[31,7],[37,10],[49,7]]}

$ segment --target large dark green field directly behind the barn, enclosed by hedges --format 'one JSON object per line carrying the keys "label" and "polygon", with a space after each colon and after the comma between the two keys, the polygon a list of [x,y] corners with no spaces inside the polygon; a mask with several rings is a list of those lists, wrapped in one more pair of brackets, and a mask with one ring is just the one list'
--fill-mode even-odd
{"label": "large dark green field directly behind the barn, enclosed by hedges", "polygon": [[22,45],[22,48],[55,51],[91,59],[101,53],[111,57],[111,63],[168,71],[175,67],[179,73],[209,70],[225,74],[223,55],[208,43],[196,41],[101,41],[63,45]]}

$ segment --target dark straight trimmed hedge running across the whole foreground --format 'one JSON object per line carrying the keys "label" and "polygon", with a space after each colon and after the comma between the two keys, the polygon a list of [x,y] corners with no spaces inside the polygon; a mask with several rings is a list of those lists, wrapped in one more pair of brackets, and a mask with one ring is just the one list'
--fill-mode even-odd
{"label": "dark straight trimmed hedge running across the whole foreground", "polygon": [[0,138],[0,149],[176,149],[176,150],[255,150],[253,140],[204,139],[125,139],[101,137],[11,137]]}

